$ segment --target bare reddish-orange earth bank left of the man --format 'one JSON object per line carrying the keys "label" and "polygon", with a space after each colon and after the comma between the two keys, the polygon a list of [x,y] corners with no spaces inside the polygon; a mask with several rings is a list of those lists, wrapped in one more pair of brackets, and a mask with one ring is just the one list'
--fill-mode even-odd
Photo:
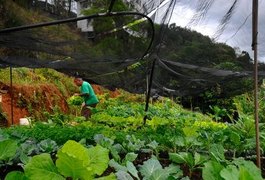
{"label": "bare reddish-orange earth bank left of the man", "polygon": [[[31,103],[32,111],[50,112],[55,105],[58,105],[62,112],[68,111],[66,98],[58,88],[52,84],[40,85],[14,85],[13,92],[13,122],[11,113],[11,89],[9,86],[1,84],[1,89],[6,89],[7,93],[2,94],[0,103],[3,112],[7,115],[8,126],[19,124],[20,118],[29,117],[28,105]],[[1,86],[0,86],[1,87]],[[34,113],[34,112],[33,112]]]}

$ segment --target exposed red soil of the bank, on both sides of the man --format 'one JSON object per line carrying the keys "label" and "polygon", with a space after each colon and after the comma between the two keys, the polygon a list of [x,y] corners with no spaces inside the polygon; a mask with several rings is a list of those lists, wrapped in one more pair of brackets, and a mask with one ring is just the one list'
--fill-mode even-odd
{"label": "exposed red soil of the bank, on both sides of the man", "polygon": [[[120,95],[119,90],[108,91],[99,85],[92,84],[95,93],[98,95],[109,93],[114,98]],[[11,88],[9,85],[0,82],[0,110],[6,116],[6,121],[1,120],[1,126],[19,124],[20,118],[27,118],[31,115],[39,115],[43,111],[52,112],[59,107],[64,113],[69,112],[66,99],[60,90],[53,84],[39,85],[13,85],[13,113],[11,110]],[[12,118],[13,114],[13,118]]]}

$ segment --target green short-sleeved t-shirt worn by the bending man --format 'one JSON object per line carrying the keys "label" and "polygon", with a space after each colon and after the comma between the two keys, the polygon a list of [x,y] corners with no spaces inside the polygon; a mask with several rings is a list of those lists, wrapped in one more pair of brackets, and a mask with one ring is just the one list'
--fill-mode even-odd
{"label": "green short-sleeved t-shirt worn by the bending man", "polygon": [[89,96],[83,96],[86,105],[97,104],[99,102],[92,86],[88,82],[83,81],[80,91],[81,94],[89,94]]}

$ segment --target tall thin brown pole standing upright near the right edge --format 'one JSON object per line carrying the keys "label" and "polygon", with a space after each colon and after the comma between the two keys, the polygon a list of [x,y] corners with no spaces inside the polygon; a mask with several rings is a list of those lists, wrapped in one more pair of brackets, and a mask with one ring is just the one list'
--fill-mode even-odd
{"label": "tall thin brown pole standing upright near the right edge", "polygon": [[254,103],[255,103],[255,128],[256,128],[256,154],[257,167],[261,167],[260,162],[260,140],[259,140],[259,104],[258,104],[258,53],[257,53],[257,36],[258,36],[258,0],[253,0],[252,6],[252,50],[254,51]]}

